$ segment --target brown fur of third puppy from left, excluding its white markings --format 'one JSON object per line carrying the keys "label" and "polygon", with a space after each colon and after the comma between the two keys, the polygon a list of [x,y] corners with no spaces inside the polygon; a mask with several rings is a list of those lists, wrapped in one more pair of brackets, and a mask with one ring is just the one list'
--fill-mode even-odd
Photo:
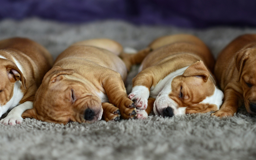
{"label": "brown fur of third puppy from left, excluding its white markings", "polygon": [[[172,35],[160,37],[149,46],[153,52],[149,53],[142,62],[142,71],[133,79],[133,86],[156,86],[171,72],[189,66],[183,75],[177,76],[172,81],[172,92],[169,97],[180,107],[187,107],[187,112],[215,90],[215,80],[211,75],[214,58],[208,47],[193,35]],[[196,76],[201,77],[198,78]],[[179,98],[182,86],[183,97]],[[152,101],[146,110],[149,114],[153,110]],[[197,105],[197,112],[205,112],[206,106]],[[208,104],[208,107],[209,106]],[[211,107],[207,111],[216,111]],[[195,112],[195,109],[193,109]]]}

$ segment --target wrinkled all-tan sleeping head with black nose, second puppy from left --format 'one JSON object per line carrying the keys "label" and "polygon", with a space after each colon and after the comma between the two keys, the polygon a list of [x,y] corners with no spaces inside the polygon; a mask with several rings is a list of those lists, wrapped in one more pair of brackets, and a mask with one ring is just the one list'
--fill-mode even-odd
{"label": "wrinkled all-tan sleeping head with black nose, second puppy from left", "polygon": [[33,108],[22,117],[66,124],[92,123],[102,116],[101,99],[86,82],[72,76],[74,70],[53,67],[36,92]]}

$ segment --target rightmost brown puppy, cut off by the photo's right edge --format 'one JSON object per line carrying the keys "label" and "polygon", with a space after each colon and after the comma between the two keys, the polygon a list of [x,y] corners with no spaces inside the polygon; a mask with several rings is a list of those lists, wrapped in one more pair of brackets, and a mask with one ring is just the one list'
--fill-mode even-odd
{"label": "rightmost brown puppy, cut off by the photo's right edge", "polygon": [[245,104],[247,112],[256,114],[256,34],[237,37],[222,52],[215,75],[224,90],[224,102],[212,115],[233,116]]}

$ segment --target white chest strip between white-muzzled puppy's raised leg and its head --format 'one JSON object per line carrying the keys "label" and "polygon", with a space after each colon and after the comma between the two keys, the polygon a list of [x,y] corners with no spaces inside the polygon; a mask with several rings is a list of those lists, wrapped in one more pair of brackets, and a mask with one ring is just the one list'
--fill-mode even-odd
{"label": "white chest strip between white-muzzled puppy's raised leg and its head", "polygon": [[152,86],[150,88],[150,97],[156,98],[160,92],[161,92],[161,94],[171,93],[172,92],[172,88],[171,88],[172,80],[175,77],[182,75],[188,67],[189,66],[178,69],[175,72],[170,73],[169,75],[164,77],[164,79],[160,80],[158,82],[158,84],[156,84],[156,86]]}

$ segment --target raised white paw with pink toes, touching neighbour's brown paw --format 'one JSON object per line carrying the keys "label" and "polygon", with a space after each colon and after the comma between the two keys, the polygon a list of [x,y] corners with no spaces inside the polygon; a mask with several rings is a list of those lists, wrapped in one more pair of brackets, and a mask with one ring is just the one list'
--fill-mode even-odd
{"label": "raised white paw with pink toes, touching neighbour's brown paw", "polygon": [[136,108],[145,110],[147,108],[147,99],[149,98],[149,89],[145,86],[135,86],[128,98],[134,102]]}

